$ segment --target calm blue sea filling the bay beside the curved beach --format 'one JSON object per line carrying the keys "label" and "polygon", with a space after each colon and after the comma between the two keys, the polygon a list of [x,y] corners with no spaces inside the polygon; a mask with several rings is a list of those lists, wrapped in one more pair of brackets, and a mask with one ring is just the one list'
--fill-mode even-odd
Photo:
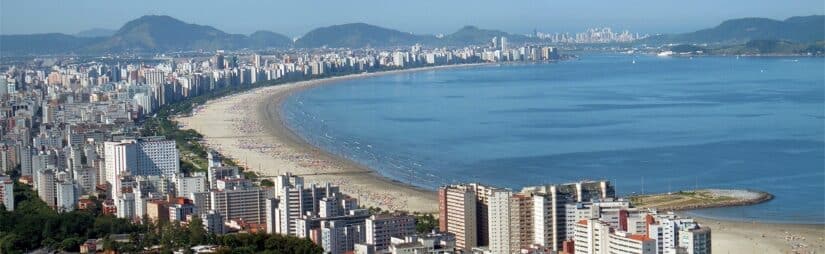
{"label": "calm blue sea filling the bay beside the curved beach", "polygon": [[308,142],[422,187],[749,188],[776,199],[695,213],[825,223],[823,58],[584,55],[344,81],[281,110]]}

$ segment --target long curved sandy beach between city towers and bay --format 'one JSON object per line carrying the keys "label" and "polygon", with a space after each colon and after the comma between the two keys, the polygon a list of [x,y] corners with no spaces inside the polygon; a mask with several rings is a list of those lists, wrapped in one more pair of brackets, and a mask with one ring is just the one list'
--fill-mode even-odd
{"label": "long curved sandy beach between city towers and bay", "polygon": [[[493,66],[495,63],[418,67],[350,74],[252,89],[208,101],[192,114],[174,119],[204,136],[206,146],[261,177],[291,172],[307,183],[329,182],[358,198],[365,207],[437,213],[436,192],[385,177],[357,162],[324,151],[294,133],[280,116],[280,106],[296,92],[339,81],[442,69]],[[264,166],[266,165],[266,166]]]}

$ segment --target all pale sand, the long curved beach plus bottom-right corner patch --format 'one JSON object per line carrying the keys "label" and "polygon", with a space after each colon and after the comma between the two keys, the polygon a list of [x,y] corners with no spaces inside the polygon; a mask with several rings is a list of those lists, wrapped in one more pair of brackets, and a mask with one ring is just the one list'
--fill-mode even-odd
{"label": "all pale sand, the long curved beach plus bottom-right corner patch", "polygon": [[[277,107],[290,94],[313,86],[457,67],[466,65],[355,74],[263,87],[209,101],[198,107],[192,116],[176,120],[184,129],[203,134],[208,147],[236,159],[264,177],[292,172],[303,175],[309,183],[339,185],[344,193],[358,198],[368,207],[435,213],[438,209],[435,192],[387,179],[362,165],[307,144],[284,126]],[[713,230],[714,253],[825,252],[825,225],[697,220]]]}

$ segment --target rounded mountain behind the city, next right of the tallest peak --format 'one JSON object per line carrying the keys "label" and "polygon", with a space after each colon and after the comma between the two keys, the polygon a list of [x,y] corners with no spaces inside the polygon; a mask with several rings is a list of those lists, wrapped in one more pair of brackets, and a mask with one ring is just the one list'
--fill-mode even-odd
{"label": "rounded mountain behind the city, next right of the tallest peak", "polygon": [[429,43],[436,38],[429,35],[415,35],[398,30],[365,23],[350,23],[316,28],[295,42],[299,48],[358,48],[405,46]]}

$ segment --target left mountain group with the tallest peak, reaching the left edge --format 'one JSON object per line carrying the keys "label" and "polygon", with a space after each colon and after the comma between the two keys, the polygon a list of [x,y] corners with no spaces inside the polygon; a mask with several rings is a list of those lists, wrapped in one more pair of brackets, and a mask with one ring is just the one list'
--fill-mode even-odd
{"label": "left mountain group with the tallest peak, reaching the left edge", "polygon": [[0,36],[0,54],[92,54],[107,52],[166,52],[291,47],[292,39],[270,31],[229,34],[211,26],[189,24],[169,16],[143,16],[117,31],[87,30],[77,35],[32,34]]}

